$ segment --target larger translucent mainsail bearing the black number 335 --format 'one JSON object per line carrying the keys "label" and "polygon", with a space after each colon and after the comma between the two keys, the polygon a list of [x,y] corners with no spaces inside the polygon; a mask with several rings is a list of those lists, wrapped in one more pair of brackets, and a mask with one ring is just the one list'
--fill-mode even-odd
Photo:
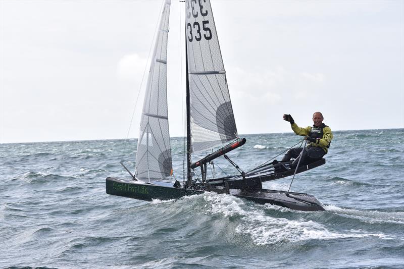
{"label": "larger translucent mainsail bearing the black number 335", "polygon": [[185,30],[192,151],[238,137],[211,3],[186,0]]}

